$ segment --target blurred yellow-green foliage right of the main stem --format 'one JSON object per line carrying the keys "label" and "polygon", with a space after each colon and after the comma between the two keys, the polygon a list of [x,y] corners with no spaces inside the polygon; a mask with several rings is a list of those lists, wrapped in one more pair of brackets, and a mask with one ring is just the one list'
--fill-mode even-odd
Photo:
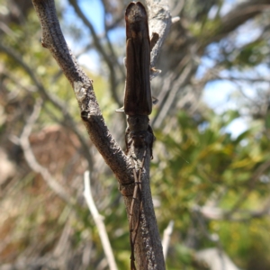
{"label": "blurred yellow-green foliage right of the main stem", "polygon": [[[244,268],[247,257],[252,257],[251,247],[258,245],[257,233],[263,235],[262,226],[269,226],[266,218],[250,223],[240,221],[251,220],[250,213],[266,202],[269,187],[259,179],[261,175],[269,175],[269,169],[261,175],[257,175],[257,171],[269,159],[269,145],[266,146],[268,139],[263,132],[263,121],[232,138],[226,127],[238,116],[237,111],[217,115],[208,110],[200,117],[179,112],[174,129],[155,133],[156,148],[162,149],[155,151],[152,172],[154,194],[161,202],[157,217],[162,229],[169,220],[175,220],[172,244],[179,253],[175,257],[171,252],[168,262],[174,263],[168,263],[168,269],[174,269],[175,264],[186,266],[185,251],[181,251],[177,243],[185,241],[191,226],[196,230],[196,249],[215,245],[206,238],[205,231],[217,233],[224,250]],[[240,203],[237,212],[230,216],[239,221],[231,222],[230,218],[200,221],[194,209],[211,203],[228,213]],[[266,235],[260,238],[262,246],[269,240]],[[266,262],[267,249],[260,256]]]}

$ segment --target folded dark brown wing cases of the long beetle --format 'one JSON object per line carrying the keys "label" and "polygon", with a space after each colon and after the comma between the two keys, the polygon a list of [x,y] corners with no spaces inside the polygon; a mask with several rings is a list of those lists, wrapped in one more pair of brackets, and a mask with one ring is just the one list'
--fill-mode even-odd
{"label": "folded dark brown wing cases of the long beetle", "polygon": [[150,40],[148,14],[140,3],[130,3],[125,13],[127,78],[124,112],[149,115],[152,112],[150,87]]}

